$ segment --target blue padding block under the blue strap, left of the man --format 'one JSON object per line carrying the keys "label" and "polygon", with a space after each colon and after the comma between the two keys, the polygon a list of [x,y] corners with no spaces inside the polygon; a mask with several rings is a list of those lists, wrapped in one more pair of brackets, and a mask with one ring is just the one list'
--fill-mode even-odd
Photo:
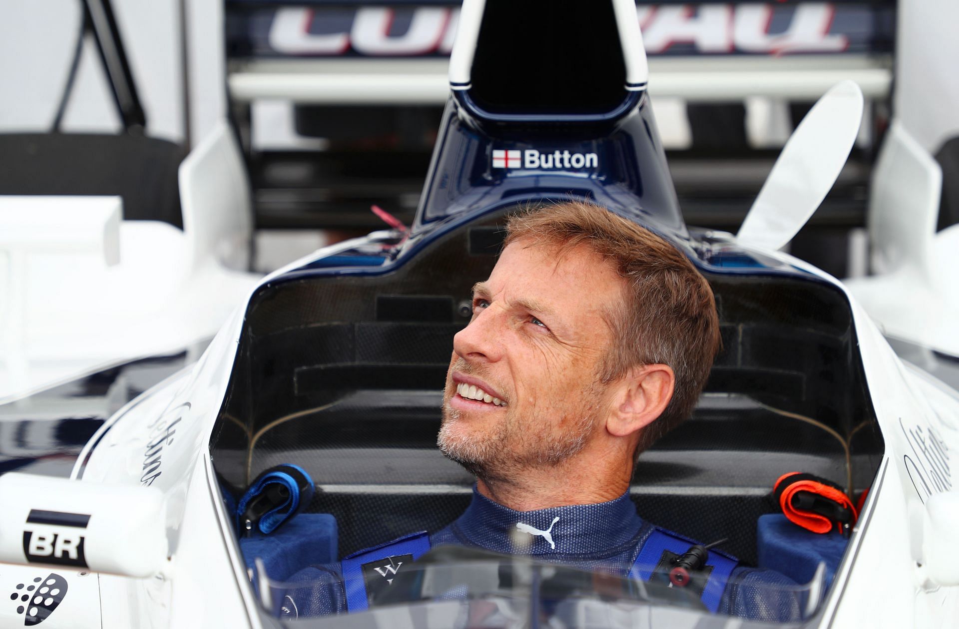
{"label": "blue padding block under the blue strap, left of the man", "polygon": [[267,575],[284,581],[307,566],[338,559],[337,519],[329,513],[300,513],[269,535],[240,538],[246,568],[263,560]]}

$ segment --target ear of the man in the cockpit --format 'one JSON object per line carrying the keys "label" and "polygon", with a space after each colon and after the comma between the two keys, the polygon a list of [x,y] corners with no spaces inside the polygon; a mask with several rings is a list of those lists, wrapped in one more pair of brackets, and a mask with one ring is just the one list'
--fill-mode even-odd
{"label": "ear of the man in the cockpit", "polygon": [[644,364],[616,381],[606,430],[615,436],[639,431],[666,410],[676,378],[667,364]]}

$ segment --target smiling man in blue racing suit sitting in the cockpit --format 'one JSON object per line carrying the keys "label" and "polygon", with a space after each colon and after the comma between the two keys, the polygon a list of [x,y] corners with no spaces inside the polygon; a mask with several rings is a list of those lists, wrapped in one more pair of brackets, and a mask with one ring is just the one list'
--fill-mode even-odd
{"label": "smiling man in blue racing suit sitting in the cockpit", "polygon": [[[690,415],[709,375],[719,346],[709,284],[666,240],[595,205],[526,212],[506,233],[456,334],[438,437],[477,478],[469,507],[431,535],[298,573],[317,585],[288,613],[364,609],[363,567],[389,559],[389,576],[392,558],[440,545],[643,579],[690,547],[643,521],[628,491],[638,454]],[[715,549],[705,568],[694,578],[708,609],[799,617],[794,597],[771,594],[795,586],[783,575]]]}

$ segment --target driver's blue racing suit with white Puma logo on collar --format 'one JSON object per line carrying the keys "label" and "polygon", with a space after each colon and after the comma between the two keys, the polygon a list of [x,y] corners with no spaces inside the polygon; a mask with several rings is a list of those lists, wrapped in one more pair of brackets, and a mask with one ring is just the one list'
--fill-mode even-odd
{"label": "driver's blue racing suit with white Puma logo on collar", "polygon": [[[678,536],[672,538],[673,535],[668,536],[672,551],[684,552],[691,541]],[[425,533],[411,535],[353,553],[341,564],[311,566],[296,572],[289,579],[292,587],[280,602],[281,614],[308,617],[365,609],[365,590],[359,594],[348,592],[349,586],[344,585],[344,570],[359,574],[361,563],[366,562],[365,567],[378,566],[372,562],[373,558],[384,563],[378,571],[384,579],[396,574],[399,565],[394,558],[411,553],[407,559],[416,559],[430,547],[442,545],[479,547],[505,554],[525,552],[541,562],[645,579],[649,578],[649,573],[643,574],[639,570],[638,559],[643,562],[644,557],[647,567],[655,565],[664,539],[661,529],[639,517],[628,493],[614,501],[598,504],[514,511],[479,495],[474,488],[473,500],[466,511],[452,524],[429,536]],[[523,544],[523,547],[516,547],[517,544]],[[716,551],[710,551],[711,557],[713,553]],[[384,557],[388,563],[382,561]],[[723,571],[725,566],[727,576],[711,578],[710,584],[718,590],[714,592],[713,605],[707,604],[707,608],[720,614],[756,620],[801,618],[797,584],[791,579],[775,571],[737,566],[737,561],[728,555],[716,556],[716,559],[722,562],[717,563],[717,571]],[[362,582],[362,578],[347,581]],[[294,583],[303,584],[303,587],[293,586]]]}

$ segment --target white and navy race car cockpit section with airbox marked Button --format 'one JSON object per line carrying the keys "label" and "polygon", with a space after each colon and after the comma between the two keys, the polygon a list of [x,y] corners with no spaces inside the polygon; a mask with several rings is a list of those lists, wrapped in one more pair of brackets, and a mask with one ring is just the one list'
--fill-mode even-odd
{"label": "white and navy race car cockpit section with airbox marked Button", "polygon": [[[480,608],[483,626],[749,626],[666,583],[464,548],[434,548],[416,587],[365,612],[300,617],[284,598],[301,568],[464,508],[472,477],[434,446],[452,338],[504,217],[570,198],[668,238],[716,295],[723,349],[690,420],[640,457],[643,518],[790,576],[792,626],[953,622],[959,394],[779,250],[852,147],[854,84],[809,112],[734,236],[682,221],[630,0],[468,0],[450,82],[412,225],[270,275],[197,364],[97,431],[71,479],[0,477],[4,626],[458,627]],[[857,502],[848,538],[769,529],[794,471]],[[488,587],[439,594],[464,573]]]}

